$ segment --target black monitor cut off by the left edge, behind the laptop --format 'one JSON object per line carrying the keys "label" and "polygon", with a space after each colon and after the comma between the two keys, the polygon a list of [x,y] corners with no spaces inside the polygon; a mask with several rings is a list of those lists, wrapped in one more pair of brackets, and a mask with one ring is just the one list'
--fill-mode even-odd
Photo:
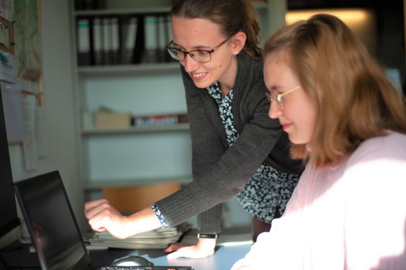
{"label": "black monitor cut off by the left edge, behind the laptop", "polygon": [[[1,89],[0,89],[1,90]],[[9,144],[7,142],[3,99],[0,91],[0,237],[19,226],[13,176],[11,173]]]}

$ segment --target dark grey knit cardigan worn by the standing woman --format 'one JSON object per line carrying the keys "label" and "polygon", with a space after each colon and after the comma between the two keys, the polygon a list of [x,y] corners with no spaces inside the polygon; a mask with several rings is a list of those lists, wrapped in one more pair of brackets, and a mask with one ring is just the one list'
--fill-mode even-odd
{"label": "dark grey knit cardigan worn by the standing woman", "polygon": [[197,88],[181,66],[192,138],[193,181],[155,204],[170,227],[198,214],[200,233],[221,231],[221,203],[234,197],[265,163],[300,174],[301,162],[289,157],[289,139],[277,119],[268,116],[263,61],[237,56],[233,117],[238,138],[229,147],[218,104]]}

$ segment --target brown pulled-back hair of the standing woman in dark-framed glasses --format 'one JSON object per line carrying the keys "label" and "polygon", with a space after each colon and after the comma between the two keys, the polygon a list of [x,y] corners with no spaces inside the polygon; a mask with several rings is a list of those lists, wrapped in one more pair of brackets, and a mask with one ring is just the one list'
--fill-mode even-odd
{"label": "brown pulled-back hair of the standing woman in dark-framed glasses", "polygon": [[258,48],[259,15],[248,0],[175,0],[171,15],[211,20],[222,27],[223,34],[227,37],[242,31],[247,35],[242,50],[254,59],[262,58]]}

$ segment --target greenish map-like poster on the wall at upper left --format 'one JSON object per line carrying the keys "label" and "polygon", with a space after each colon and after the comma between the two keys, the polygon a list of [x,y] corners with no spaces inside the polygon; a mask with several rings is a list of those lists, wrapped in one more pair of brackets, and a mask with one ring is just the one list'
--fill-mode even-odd
{"label": "greenish map-like poster on the wall at upper left", "polygon": [[42,92],[39,0],[14,0],[16,83],[26,92]]}

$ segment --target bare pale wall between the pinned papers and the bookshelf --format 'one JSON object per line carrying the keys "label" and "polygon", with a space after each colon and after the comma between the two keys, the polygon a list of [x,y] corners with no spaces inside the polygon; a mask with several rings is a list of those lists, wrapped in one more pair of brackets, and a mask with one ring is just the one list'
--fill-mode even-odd
{"label": "bare pale wall between the pinned papers and the bookshelf", "polygon": [[[83,189],[77,162],[77,124],[73,91],[73,56],[69,2],[41,0],[44,109],[49,155],[26,171],[22,145],[10,146],[14,181],[59,170],[78,223],[83,224]],[[18,237],[18,230],[0,239],[0,247]]]}

